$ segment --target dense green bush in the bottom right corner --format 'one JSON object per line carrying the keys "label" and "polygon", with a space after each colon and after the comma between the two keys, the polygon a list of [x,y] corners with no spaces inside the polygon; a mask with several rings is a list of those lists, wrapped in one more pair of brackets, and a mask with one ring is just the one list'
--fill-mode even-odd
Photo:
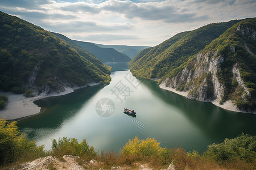
{"label": "dense green bush in the bottom right corner", "polygon": [[255,163],[256,137],[242,133],[237,138],[225,139],[223,143],[209,145],[204,156],[220,163],[237,160]]}

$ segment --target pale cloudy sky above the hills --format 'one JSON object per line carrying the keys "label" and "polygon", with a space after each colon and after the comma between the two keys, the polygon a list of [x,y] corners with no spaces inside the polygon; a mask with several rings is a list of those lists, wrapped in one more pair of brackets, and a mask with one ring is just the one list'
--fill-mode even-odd
{"label": "pale cloudy sky above the hills", "polygon": [[70,39],[155,46],[210,23],[256,17],[256,0],[1,0],[0,11]]}

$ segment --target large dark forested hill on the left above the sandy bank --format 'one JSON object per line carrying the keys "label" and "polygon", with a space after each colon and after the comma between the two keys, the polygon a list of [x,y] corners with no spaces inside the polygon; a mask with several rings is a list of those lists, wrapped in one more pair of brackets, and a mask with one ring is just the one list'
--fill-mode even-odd
{"label": "large dark forested hill on the left above the sandy bank", "polygon": [[109,82],[110,67],[43,28],[0,12],[0,90],[59,92]]}

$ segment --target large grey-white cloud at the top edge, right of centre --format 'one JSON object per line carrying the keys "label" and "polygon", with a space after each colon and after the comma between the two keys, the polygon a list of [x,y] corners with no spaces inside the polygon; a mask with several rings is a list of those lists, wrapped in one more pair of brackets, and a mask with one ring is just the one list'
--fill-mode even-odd
{"label": "large grey-white cloud at the top edge, right of centre", "polygon": [[133,3],[131,1],[110,0],[102,3],[101,9],[121,14],[129,19],[162,20],[166,23],[206,20],[209,18],[207,15],[198,17],[196,13],[182,12],[181,8],[173,5],[171,1]]}

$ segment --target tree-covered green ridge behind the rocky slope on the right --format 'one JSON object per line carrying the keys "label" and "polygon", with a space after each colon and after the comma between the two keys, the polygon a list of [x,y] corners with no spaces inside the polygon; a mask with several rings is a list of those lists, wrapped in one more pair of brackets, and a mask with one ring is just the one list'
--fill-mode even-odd
{"label": "tree-covered green ridge behind the rocky slope on the right", "polygon": [[162,78],[237,22],[239,20],[208,24],[194,31],[179,33],[158,46],[139,53],[129,62],[130,70],[140,78]]}

